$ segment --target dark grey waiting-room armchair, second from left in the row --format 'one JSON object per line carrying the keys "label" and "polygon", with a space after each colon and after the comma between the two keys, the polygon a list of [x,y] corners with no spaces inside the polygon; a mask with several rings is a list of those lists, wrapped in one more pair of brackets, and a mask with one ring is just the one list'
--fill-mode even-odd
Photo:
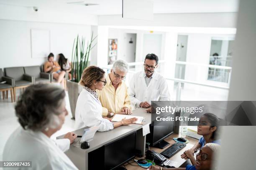
{"label": "dark grey waiting-room armchair, second from left in the row", "polygon": [[21,88],[24,90],[29,85],[32,85],[33,76],[25,74],[23,67],[8,67],[4,70],[5,76],[12,78],[14,81],[13,95],[14,101],[16,101],[16,90]]}

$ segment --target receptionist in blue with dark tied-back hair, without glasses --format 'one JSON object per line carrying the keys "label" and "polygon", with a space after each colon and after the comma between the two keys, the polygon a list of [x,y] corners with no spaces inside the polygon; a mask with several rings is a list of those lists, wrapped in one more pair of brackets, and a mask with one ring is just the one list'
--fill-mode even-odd
{"label": "receptionist in blue with dark tied-back hair, without glasses", "polygon": [[189,158],[192,165],[195,165],[195,150],[202,148],[207,143],[217,143],[220,145],[218,130],[218,117],[216,115],[212,113],[205,113],[202,115],[197,126],[197,134],[202,135],[202,137],[191,149],[186,150],[181,155],[181,158]]}

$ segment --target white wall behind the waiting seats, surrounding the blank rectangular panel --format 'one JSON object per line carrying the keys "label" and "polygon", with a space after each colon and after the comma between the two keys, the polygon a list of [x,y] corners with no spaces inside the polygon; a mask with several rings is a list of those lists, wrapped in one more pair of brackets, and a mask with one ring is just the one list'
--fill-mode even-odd
{"label": "white wall behind the waiting seats, surrounding the blank rectangular panel", "polygon": [[[90,38],[91,26],[0,20],[0,68],[41,65],[46,58],[31,57],[31,28],[50,30],[51,52],[63,53],[71,60],[74,38]],[[44,44],[42,44],[44,45]]]}

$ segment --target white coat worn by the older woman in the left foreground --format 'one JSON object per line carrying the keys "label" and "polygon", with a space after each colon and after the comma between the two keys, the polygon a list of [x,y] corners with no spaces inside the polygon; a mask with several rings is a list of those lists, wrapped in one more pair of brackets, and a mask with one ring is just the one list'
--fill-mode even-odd
{"label": "white coat worn by the older woman in the left foreground", "polygon": [[[69,148],[69,139],[56,141],[57,143],[40,131],[33,132],[19,127],[5,144],[3,160],[32,161],[32,168],[22,168],[23,170],[77,170],[64,151],[58,147],[61,145],[61,148]],[[21,168],[6,168],[6,170],[18,169]]]}

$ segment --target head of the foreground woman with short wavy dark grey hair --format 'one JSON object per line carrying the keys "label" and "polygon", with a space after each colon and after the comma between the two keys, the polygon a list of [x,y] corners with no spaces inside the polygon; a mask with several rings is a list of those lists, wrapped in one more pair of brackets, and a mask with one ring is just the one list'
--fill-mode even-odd
{"label": "head of the foreground woman with short wavy dark grey hair", "polygon": [[65,91],[56,85],[36,84],[26,88],[20,100],[15,105],[16,116],[23,129],[42,131],[56,128],[60,121],[59,109]]}

